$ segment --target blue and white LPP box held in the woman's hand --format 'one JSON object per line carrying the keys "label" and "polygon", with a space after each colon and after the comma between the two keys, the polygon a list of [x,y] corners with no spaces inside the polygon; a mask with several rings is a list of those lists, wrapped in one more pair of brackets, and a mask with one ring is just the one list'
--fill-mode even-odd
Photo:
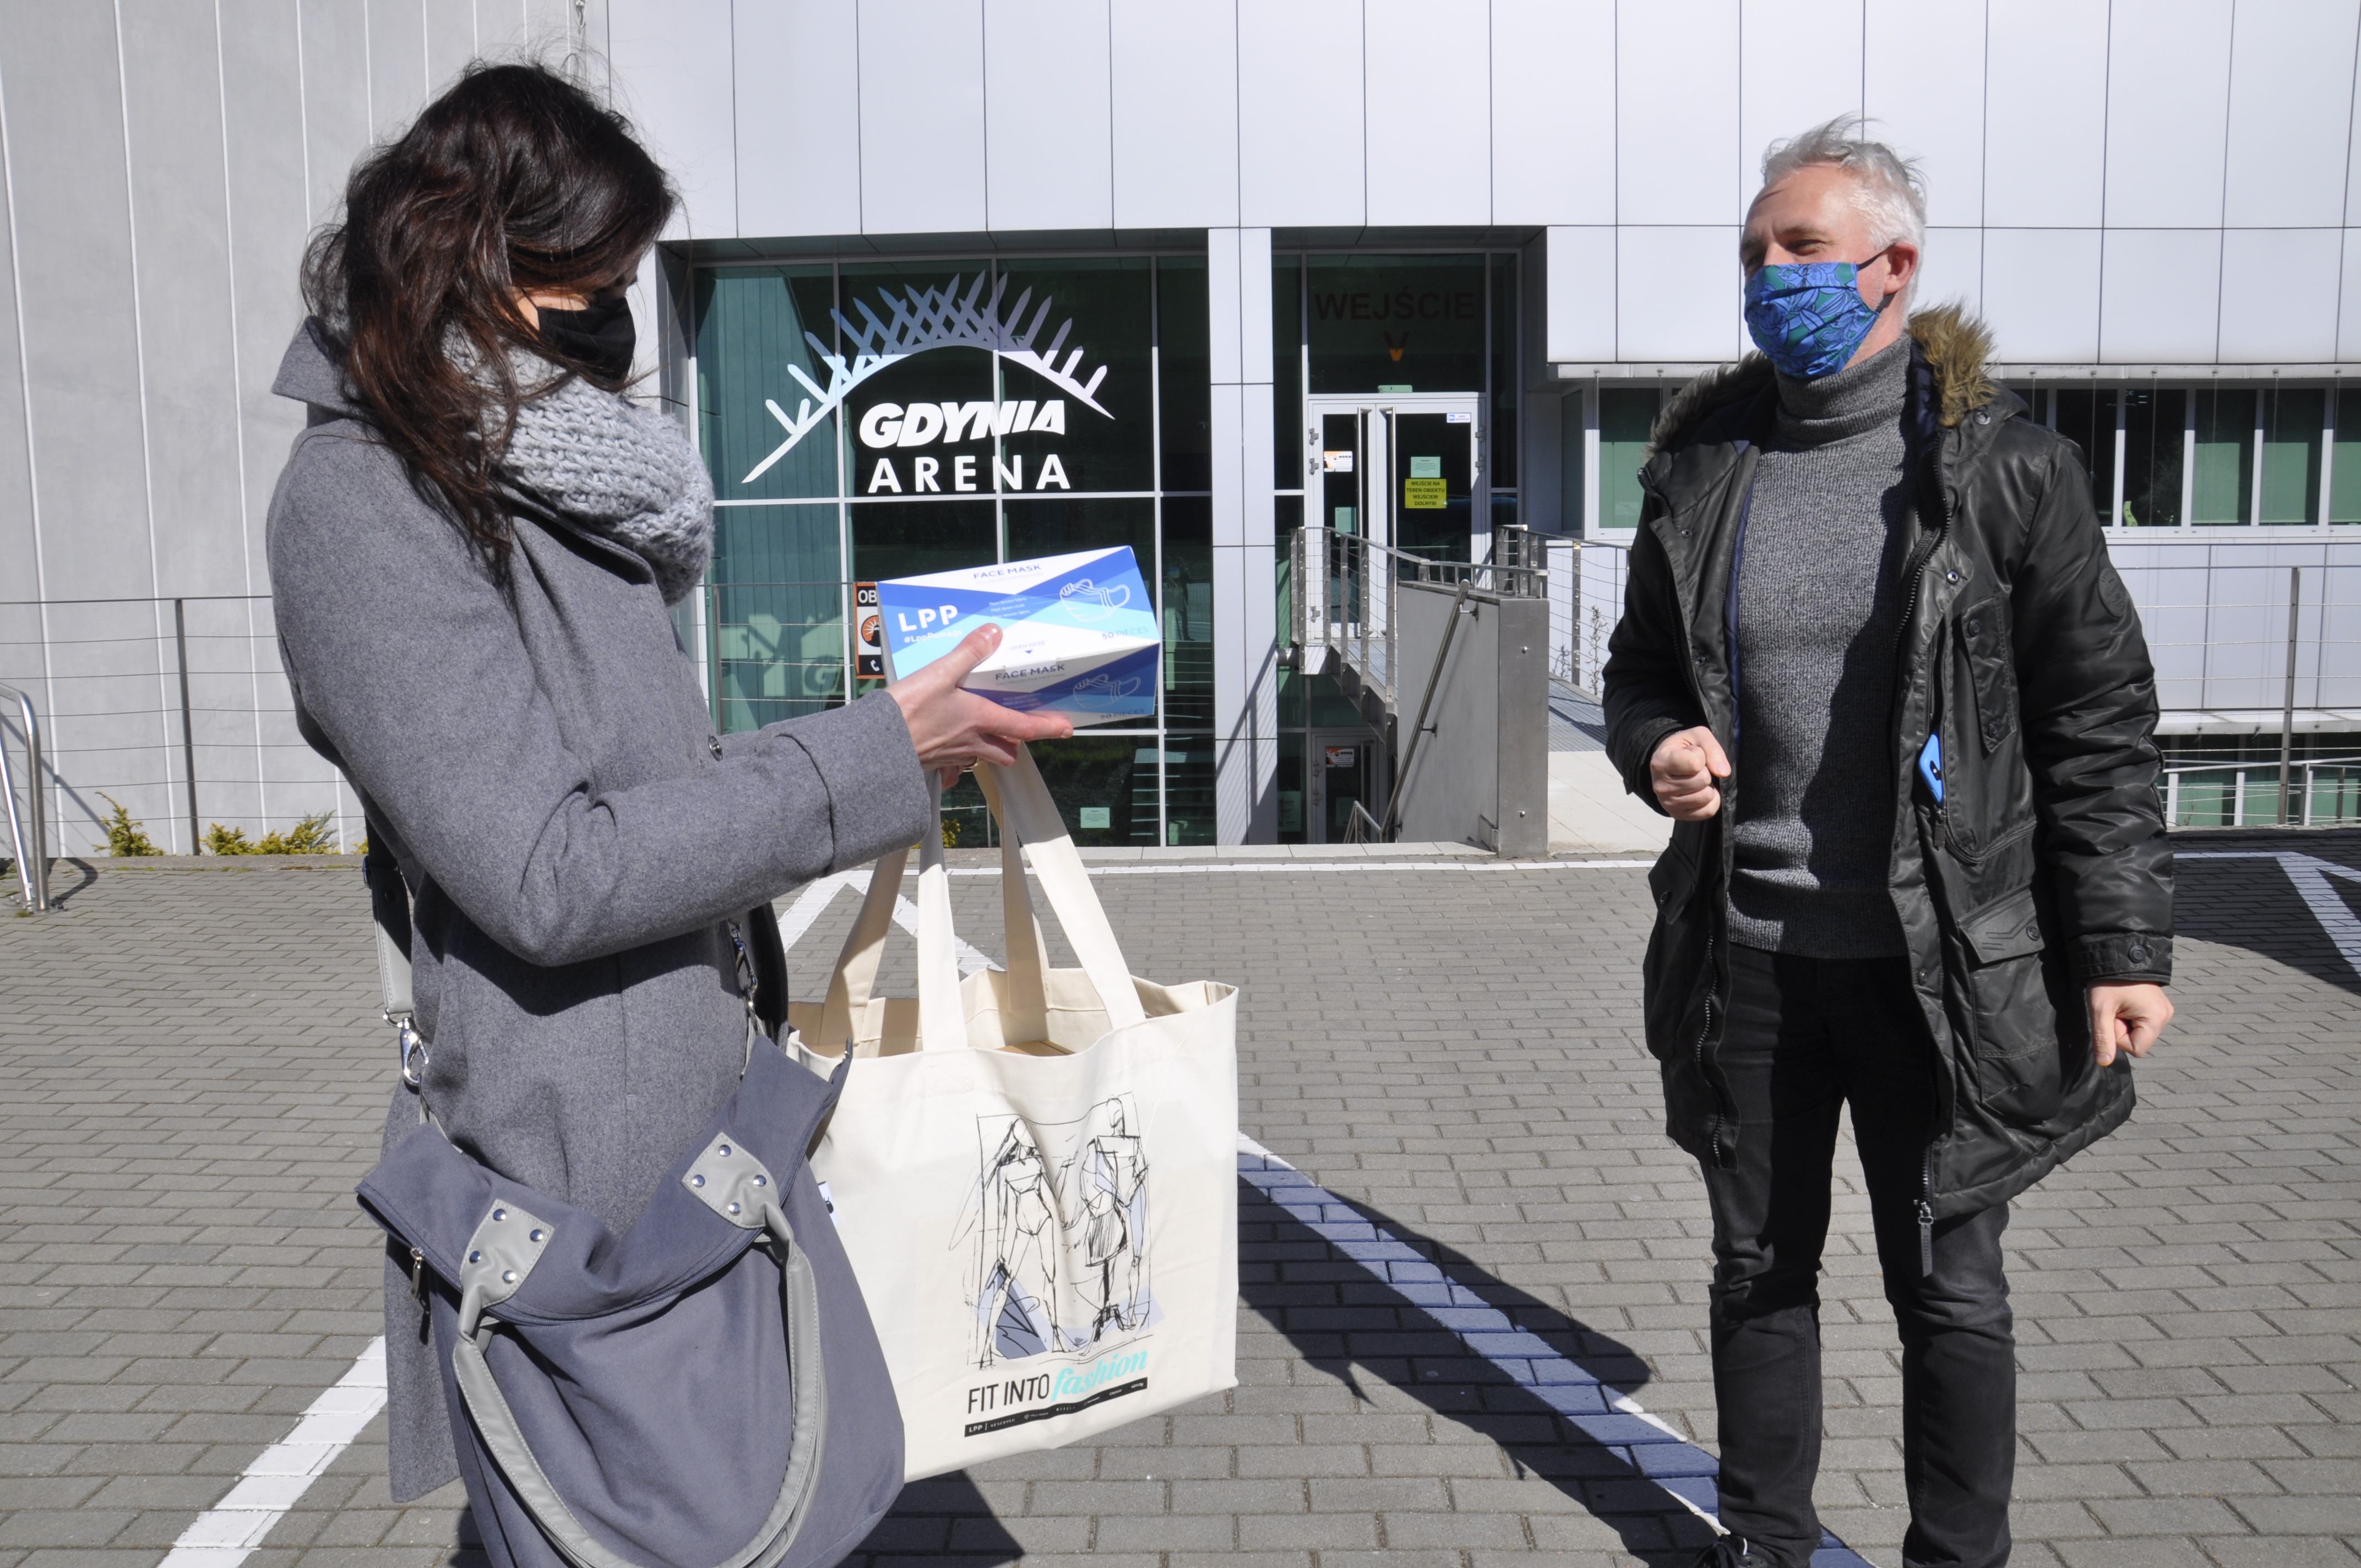
{"label": "blue and white LPP box held in the woman's hand", "polygon": [[966,690],[1077,730],[1155,718],[1164,640],[1131,545],[881,581],[878,612],[897,680],[999,626]]}

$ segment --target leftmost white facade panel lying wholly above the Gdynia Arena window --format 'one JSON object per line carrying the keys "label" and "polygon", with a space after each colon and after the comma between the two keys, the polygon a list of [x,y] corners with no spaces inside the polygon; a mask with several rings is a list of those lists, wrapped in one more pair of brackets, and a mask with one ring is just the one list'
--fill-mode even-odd
{"label": "leftmost white facade panel lying wholly above the Gdynia Arena window", "polygon": [[862,231],[862,28],[843,0],[737,0],[739,231]]}

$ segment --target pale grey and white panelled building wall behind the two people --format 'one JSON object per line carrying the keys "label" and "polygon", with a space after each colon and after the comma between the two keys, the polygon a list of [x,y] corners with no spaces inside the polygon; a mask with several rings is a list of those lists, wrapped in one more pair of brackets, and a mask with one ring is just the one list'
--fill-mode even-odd
{"label": "pale grey and white panelled building wall behind the two people", "polygon": [[[203,819],[349,808],[288,732],[243,597],[269,588],[300,420],[269,380],[305,234],[477,52],[562,52],[581,26],[682,184],[682,241],[1525,243],[1554,399],[1740,349],[1761,144],[1839,111],[1924,161],[1924,298],[1981,309],[2012,366],[2340,375],[2361,364],[2356,21],[2354,0],[0,0],[0,680],[78,716],[52,734],[71,848],[109,784],[187,836],[182,706]],[[1216,333],[1251,345],[1258,290],[1268,269],[1240,267]],[[663,314],[654,279],[642,307]],[[1265,472],[1268,366],[1249,349],[1216,383],[1235,475]],[[1268,815],[1270,510],[1232,489],[1244,834]]]}

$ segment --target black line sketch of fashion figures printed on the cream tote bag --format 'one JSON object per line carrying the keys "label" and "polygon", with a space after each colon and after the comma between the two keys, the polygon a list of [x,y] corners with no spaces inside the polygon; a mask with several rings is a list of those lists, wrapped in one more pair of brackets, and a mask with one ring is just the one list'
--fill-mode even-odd
{"label": "black line sketch of fashion figures printed on the cream tote bag", "polygon": [[1152,1322],[1147,1157],[1136,1126],[1129,1093],[1077,1122],[975,1119],[982,1169],[951,1247],[973,1247],[977,1367],[1053,1351],[1096,1355]]}

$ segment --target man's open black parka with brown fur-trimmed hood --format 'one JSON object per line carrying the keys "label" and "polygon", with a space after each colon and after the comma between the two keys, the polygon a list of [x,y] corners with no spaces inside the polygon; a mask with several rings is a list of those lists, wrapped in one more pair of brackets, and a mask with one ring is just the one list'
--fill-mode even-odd
{"label": "man's open black parka with brown fur-trimmed hood", "polygon": [[[2156,796],[2156,675],[2073,444],[1986,380],[1990,340],[1912,316],[1910,527],[1894,642],[1894,909],[1934,1041],[1924,1202],[1967,1214],[2026,1190],[2132,1112],[2132,1065],[2097,1067],[2082,987],[2170,980],[2172,850]],[[1728,581],[1778,387],[1754,354],[1690,383],[1641,470],[1624,614],[1605,666],[1608,749],[1650,805],[1674,730],[1733,744]],[[1943,801],[1917,779],[1943,737]],[[1738,808],[1681,822],[1650,871],[1648,1048],[1669,1136],[1733,1155],[1716,1065],[1724,888]],[[1901,1048],[1901,1041],[1896,1041]]]}

